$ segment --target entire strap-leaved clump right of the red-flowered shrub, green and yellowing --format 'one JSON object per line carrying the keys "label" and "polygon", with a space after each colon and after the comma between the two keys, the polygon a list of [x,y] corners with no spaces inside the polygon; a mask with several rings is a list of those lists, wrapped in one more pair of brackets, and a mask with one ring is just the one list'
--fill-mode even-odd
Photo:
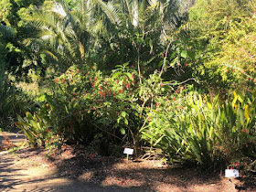
{"label": "entire strap-leaved clump right of the red-flowered shrub, green and yellowing", "polygon": [[[227,101],[212,101],[197,93],[159,104],[148,113],[151,122],[143,138],[160,147],[171,163],[194,162],[213,166],[255,157],[254,94],[235,91]],[[170,107],[171,106],[171,107]],[[248,152],[251,152],[248,153]]]}

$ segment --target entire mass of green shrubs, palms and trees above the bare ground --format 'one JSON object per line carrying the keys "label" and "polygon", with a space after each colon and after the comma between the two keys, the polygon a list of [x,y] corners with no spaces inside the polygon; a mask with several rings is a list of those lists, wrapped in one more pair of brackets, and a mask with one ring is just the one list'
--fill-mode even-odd
{"label": "entire mass of green shrubs, palms and trees above the bare ground", "polygon": [[0,125],[49,155],[64,143],[102,155],[125,145],[135,156],[158,148],[172,164],[250,165],[255,5],[2,1]]}

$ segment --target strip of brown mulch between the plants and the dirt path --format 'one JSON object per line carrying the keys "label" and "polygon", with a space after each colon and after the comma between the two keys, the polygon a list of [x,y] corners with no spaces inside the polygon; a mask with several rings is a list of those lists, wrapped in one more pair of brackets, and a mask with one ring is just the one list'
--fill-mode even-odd
{"label": "strip of brown mulch between the plants and the dirt path", "polygon": [[247,177],[226,178],[184,166],[163,165],[160,161],[88,154],[79,145],[65,146],[63,153],[48,158],[42,148],[26,148],[16,152],[29,165],[44,165],[56,176],[69,177],[103,187],[138,187],[144,191],[256,191],[255,181]]}

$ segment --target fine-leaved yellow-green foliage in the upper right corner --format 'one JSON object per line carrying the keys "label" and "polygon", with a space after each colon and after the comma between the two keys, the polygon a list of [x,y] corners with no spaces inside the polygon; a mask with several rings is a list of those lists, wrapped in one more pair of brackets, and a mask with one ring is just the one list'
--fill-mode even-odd
{"label": "fine-leaved yellow-green foliage in the upper right corner", "polygon": [[189,10],[189,37],[197,45],[197,77],[209,90],[254,87],[255,19],[251,0],[198,0]]}

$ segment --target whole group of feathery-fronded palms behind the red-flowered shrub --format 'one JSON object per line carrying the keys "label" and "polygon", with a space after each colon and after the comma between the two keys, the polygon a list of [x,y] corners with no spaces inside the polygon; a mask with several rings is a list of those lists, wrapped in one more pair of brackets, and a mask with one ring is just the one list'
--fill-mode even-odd
{"label": "whole group of feathery-fronded palms behind the red-flowered shrub", "polygon": [[[180,22],[177,2],[80,0],[79,5],[69,10],[59,0],[50,10],[37,10],[32,21],[37,33],[26,42],[37,53],[47,54],[61,66],[68,67],[83,64],[88,50],[101,48],[102,41],[109,44],[119,38],[133,39],[139,65],[141,40],[147,42],[152,51],[153,45],[164,44],[165,39],[173,36],[173,29]],[[122,62],[127,61],[121,57]]]}

